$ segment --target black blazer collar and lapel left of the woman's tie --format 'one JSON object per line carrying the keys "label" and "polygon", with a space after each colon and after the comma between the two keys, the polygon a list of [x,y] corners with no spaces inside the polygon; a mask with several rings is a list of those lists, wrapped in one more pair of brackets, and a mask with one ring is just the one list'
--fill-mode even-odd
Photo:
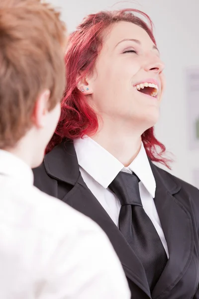
{"label": "black blazer collar and lapel left of the woman's tie", "polygon": [[[108,236],[126,276],[151,298],[144,268],[109,215],[84,182],[73,143],[65,142],[45,156],[47,173],[73,185],[62,201],[97,222]],[[145,295],[145,296],[146,296]]]}

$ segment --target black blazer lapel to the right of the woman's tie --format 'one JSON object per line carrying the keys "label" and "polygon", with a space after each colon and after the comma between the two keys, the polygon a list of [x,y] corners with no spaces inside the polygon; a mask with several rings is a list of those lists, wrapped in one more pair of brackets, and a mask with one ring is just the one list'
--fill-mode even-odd
{"label": "black blazer lapel to the right of the woman's tie", "polygon": [[161,299],[167,295],[169,298],[170,291],[189,267],[194,233],[191,216],[178,200],[181,186],[152,163],[151,168],[156,180],[154,201],[169,250],[168,263],[152,292],[152,299]]}

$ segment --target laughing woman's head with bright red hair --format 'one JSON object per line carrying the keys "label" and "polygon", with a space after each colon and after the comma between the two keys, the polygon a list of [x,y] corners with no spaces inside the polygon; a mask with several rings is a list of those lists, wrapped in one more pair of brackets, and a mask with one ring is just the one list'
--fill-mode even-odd
{"label": "laughing woman's head with bright red hair", "polygon": [[135,9],[89,15],[71,34],[65,60],[62,117],[48,150],[63,138],[92,136],[100,123],[111,119],[136,128],[149,157],[165,163],[156,146],[162,152],[165,147],[153,129],[164,89],[164,64],[148,15]]}

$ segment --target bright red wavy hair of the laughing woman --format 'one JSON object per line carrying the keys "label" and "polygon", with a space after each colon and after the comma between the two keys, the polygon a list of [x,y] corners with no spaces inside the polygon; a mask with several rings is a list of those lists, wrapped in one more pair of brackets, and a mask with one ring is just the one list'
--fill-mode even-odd
{"label": "bright red wavy hair of the laughing woman", "polygon": [[[149,25],[142,18],[136,16],[137,13],[144,17]],[[103,31],[119,21],[131,22],[142,27],[156,44],[152,21],[146,13],[140,10],[128,8],[100,11],[88,15],[69,38],[65,56],[67,88],[62,101],[62,114],[46,152],[61,143],[63,139],[83,138],[85,135],[94,135],[98,131],[97,114],[89,106],[86,96],[77,88],[77,78],[80,71],[81,78],[83,78],[93,70],[102,47]],[[142,142],[152,161],[168,166],[169,160],[162,157],[166,150],[165,146],[155,138],[153,127],[142,134]],[[157,148],[159,148],[159,152]]]}

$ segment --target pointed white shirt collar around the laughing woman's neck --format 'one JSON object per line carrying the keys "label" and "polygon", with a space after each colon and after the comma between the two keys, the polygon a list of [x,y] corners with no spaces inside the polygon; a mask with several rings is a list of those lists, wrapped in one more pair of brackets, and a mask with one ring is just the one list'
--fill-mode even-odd
{"label": "pointed white shirt collar around the laughing woman's neck", "polygon": [[[86,136],[74,141],[79,165],[101,186],[107,188],[124,165],[93,139]],[[132,163],[125,167],[135,172],[145,188],[155,197],[156,182],[143,144]]]}

